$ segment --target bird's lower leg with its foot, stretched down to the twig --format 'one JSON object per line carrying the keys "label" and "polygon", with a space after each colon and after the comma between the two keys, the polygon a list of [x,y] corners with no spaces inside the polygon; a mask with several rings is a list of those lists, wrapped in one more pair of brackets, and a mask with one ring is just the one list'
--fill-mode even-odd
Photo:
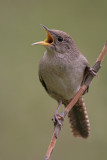
{"label": "bird's lower leg with its foot, stretched down to the twig", "polygon": [[55,112],[55,114],[54,114],[54,116],[53,116],[53,118],[52,118],[52,121],[54,122],[54,126],[56,126],[57,123],[58,123],[60,126],[62,126],[61,120],[63,120],[64,117],[63,117],[61,114],[58,113],[61,105],[62,105],[62,101],[59,101],[58,107],[57,107],[57,109],[56,109],[56,112]]}

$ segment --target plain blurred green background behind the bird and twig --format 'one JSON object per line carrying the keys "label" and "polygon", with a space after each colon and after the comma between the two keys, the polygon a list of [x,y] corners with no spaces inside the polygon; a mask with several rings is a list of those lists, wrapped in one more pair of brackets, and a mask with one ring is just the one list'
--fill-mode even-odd
{"label": "plain blurred green background behind the bird and twig", "polygon": [[[69,33],[92,66],[107,40],[107,0],[0,0],[0,160],[42,160],[57,103],[38,79],[40,26]],[[53,160],[107,159],[106,59],[84,96],[91,134],[74,138],[66,118]],[[63,109],[63,107],[62,107]]]}

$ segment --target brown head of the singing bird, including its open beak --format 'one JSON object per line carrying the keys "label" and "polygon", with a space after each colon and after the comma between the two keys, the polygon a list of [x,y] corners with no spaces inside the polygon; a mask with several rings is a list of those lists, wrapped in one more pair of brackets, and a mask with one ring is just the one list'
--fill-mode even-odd
{"label": "brown head of the singing bird, including its open beak", "polygon": [[71,52],[76,49],[73,39],[65,32],[60,30],[48,29],[41,25],[47,34],[46,40],[33,43],[32,45],[41,44],[47,50],[55,51],[58,53]]}

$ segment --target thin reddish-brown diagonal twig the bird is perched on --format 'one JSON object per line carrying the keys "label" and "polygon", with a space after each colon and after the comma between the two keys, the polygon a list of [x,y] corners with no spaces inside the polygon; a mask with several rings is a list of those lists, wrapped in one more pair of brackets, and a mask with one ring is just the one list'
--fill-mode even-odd
{"label": "thin reddish-brown diagonal twig the bird is perched on", "polygon": [[[95,73],[97,73],[99,71],[99,69],[101,67],[101,62],[104,59],[104,56],[106,55],[106,53],[107,53],[107,41],[106,41],[99,57],[97,58],[95,65],[92,67],[92,69],[95,71]],[[84,84],[80,88],[80,90],[76,93],[76,95],[74,96],[72,101],[67,105],[67,107],[64,109],[64,111],[61,113],[64,118],[66,117],[67,113],[72,109],[72,107],[76,104],[76,102],[82,96],[82,94],[86,91],[86,89],[90,85],[93,78],[94,78],[94,75],[89,73],[87,78],[85,79]],[[61,121],[61,123],[63,123],[64,119],[63,120],[61,119],[60,121]],[[53,136],[51,138],[51,142],[49,144],[49,147],[48,147],[48,150],[47,150],[47,153],[46,153],[44,160],[50,160],[52,151],[55,147],[56,140],[58,138],[60,131],[61,131],[61,126],[56,124],[56,126],[54,128]]]}

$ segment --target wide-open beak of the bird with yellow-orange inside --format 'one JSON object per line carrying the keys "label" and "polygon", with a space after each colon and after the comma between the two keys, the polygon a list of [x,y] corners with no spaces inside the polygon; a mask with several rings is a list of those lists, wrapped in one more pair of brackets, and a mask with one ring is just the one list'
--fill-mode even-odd
{"label": "wide-open beak of the bird with yellow-orange inside", "polygon": [[48,29],[47,27],[45,27],[44,25],[42,25],[42,24],[41,24],[41,26],[42,26],[42,27],[45,29],[45,31],[46,31],[46,34],[47,34],[46,40],[33,43],[32,45],[41,44],[41,45],[43,45],[43,46],[49,46],[49,45],[51,45],[52,43],[54,43],[54,39],[53,39],[52,35],[49,33],[49,29]]}

